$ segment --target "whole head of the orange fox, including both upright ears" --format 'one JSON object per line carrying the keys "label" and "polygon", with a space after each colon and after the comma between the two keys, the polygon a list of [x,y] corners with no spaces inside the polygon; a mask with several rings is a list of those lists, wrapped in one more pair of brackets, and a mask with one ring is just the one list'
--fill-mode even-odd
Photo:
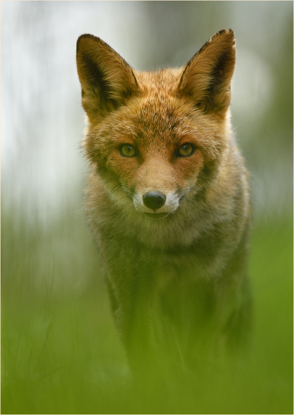
{"label": "whole head of the orange fox, including both upright ears", "polygon": [[142,217],[164,218],[212,186],[230,143],[232,30],[221,30],[183,67],[139,72],[107,43],[77,41],[83,146],[108,197]]}

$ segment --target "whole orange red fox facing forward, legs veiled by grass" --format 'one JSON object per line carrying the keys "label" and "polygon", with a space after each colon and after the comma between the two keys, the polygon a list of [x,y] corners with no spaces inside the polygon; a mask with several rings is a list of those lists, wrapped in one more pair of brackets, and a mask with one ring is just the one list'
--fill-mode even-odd
{"label": "whole orange red fox facing forward, legs veiled by grass", "polygon": [[76,45],[85,212],[132,370],[194,368],[248,341],[249,173],[230,122],[231,29],[180,68],[133,69]]}

